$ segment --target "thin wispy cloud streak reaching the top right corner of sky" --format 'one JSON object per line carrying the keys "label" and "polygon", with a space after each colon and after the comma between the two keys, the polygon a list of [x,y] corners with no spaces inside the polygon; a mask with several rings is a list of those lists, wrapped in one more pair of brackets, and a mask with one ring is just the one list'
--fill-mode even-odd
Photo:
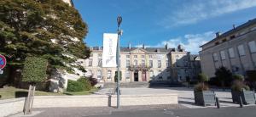
{"label": "thin wispy cloud streak reaching the top right corner of sky", "polygon": [[253,7],[256,7],[256,0],[189,1],[177,10],[172,10],[169,14],[166,14],[160,25],[171,28],[177,25],[195,24],[201,20]]}

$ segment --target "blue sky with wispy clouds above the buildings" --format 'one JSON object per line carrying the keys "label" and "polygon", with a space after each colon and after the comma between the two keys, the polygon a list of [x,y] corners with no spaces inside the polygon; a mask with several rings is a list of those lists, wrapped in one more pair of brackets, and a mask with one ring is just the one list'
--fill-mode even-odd
{"label": "blue sky with wispy clouds above the buildings", "polygon": [[256,0],[73,0],[89,25],[88,46],[102,46],[102,35],[117,30],[123,17],[120,44],[127,47],[177,47],[191,53],[212,40],[215,32],[229,31],[256,18]]}

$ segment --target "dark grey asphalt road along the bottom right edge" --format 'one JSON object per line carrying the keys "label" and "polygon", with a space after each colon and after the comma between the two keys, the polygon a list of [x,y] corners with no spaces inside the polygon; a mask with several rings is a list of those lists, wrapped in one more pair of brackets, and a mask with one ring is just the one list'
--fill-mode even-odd
{"label": "dark grey asphalt road along the bottom right edge", "polygon": [[256,117],[256,107],[123,111],[90,117]]}

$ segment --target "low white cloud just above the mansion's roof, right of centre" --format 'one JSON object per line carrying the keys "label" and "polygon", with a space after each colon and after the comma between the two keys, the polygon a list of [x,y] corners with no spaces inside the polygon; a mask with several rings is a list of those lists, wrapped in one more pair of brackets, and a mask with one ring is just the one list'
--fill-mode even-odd
{"label": "low white cloud just above the mansion's roof, right of centre", "polygon": [[[198,52],[201,51],[200,46],[212,40],[214,36],[215,33],[213,31],[207,31],[202,34],[187,34],[182,37],[172,38],[168,41],[163,41],[156,45],[147,45],[145,47],[165,47],[165,45],[168,44],[170,48],[177,48],[177,46],[181,44],[186,51],[198,54]],[[136,47],[143,47],[143,45],[137,45]]]}

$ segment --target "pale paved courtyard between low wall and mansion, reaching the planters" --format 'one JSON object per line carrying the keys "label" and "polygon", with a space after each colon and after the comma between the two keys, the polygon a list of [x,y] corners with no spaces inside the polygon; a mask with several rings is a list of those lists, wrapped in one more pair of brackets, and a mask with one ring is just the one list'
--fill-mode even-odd
{"label": "pale paved courtyard between low wall and mansion, reaching the planters", "polygon": [[[232,103],[230,90],[223,91],[222,89],[212,89],[219,98],[221,107],[239,107],[239,104]],[[104,88],[96,94],[104,95],[113,93],[113,88]],[[162,94],[162,93],[177,93],[178,103],[187,108],[206,108],[195,105],[194,92],[192,87],[158,87],[158,88],[121,88],[121,95],[140,95],[140,94]],[[254,104],[253,104],[254,105]],[[215,106],[208,106],[208,108],[216,108]]]}

